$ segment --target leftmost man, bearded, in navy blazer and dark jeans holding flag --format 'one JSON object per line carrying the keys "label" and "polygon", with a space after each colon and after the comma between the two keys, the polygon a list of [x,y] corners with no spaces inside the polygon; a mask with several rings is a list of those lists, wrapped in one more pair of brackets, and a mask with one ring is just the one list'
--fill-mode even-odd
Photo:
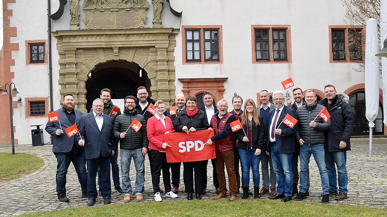
{"label": "leftmost man, bearded, in navy blazer and dark jeans holding flag", "polygon": [[87,171],[84,148],[79,146],[77,135],[67,136],[64,129],[74,124],[79,125],[83,113],[74,109],[74,97],[71,94],[63,96],[63,107],[56,110],[59,121],[48,122],[45,130],[52,136],[52,152],[56,157],[56,193],[61,202],[69,202],[66,196],[66,174],[70,163],[73,162],[81,184],[82,197],[87,197]]}

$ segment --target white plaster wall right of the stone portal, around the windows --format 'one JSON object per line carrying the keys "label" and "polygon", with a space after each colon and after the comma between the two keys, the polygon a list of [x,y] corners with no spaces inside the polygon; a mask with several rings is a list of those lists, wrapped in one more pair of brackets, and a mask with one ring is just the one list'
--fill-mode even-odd
{"label": "white plaster wall right of the stone portal, around the windows", "polygon": [[[176,92],[179,78],[226,77],[224,97],[234,91],[256,99],[262,89],[283,90],[281,81],[292,77],[302,89],[322,90],[334,84],[339,92],[364,82],[358,64],[329,63],[329,25],[346,25],[340,1],[178,1],[181,25],[222,25],[223,64],[182,64],[181,31],[176,37]],[[292,63],[253,64],[251,25],[290,25]]]}

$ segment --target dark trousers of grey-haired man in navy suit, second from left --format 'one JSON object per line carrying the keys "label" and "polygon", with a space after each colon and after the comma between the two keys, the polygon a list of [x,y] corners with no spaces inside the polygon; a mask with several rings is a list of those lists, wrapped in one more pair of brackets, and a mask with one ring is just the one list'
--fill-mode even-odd
{"label": "dark trousers of grey-haired man in navy suit, second from left", "polygon": [[98,158],[87,159],[87,195],[89,199],[97,198],[97,187],[95,185],[95,178],[97,176],[98,167],[101,170],[101,193],[104,199],[110,198],[111,186],[110,186],[110,157],[102,158],[101,155]]}

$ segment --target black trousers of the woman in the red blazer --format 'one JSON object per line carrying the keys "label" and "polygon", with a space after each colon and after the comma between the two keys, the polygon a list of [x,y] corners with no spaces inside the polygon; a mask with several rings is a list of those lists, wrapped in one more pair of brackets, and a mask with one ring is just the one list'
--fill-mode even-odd
{"label": "black trousers of the woman in the red blazer", "polygon": [[167,163],[167,157],[165,152],[159,152],[156,150],[149,150],[149,156],[152,161],[152,185],[153,185],[153,193],[159,192],[160,189],[160,175],[161,170],[163,171],[163,183],[165,188],[165,193],[171,191],[171,174],[169,173],[169,169],[171,165]]}

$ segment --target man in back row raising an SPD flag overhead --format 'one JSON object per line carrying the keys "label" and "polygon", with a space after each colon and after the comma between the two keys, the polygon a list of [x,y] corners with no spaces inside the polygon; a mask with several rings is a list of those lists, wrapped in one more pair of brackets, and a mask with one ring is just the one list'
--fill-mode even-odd
{"label": "man in back row raising an SPD flag overhead", "polygon": [[[304,96],[302,95],[301,88],[294,88],[293,89],[293,99],[294,103],[292,104],[292,101],[290,98],[288,98],[287,103],[290,105],[289,107],[296,112],[297,109],[303,105],[305,105]],[[293,159],[292,159],[292,171],[293,171],[293,192],[292,195],[296,195],[298,193],[298,180],[299,180],[299,174],[298,174],[298,158],[300,156],[300,144],[298,143],[296,139],[295,144],[295,152],[293,153]],[[309,194],[309,168],[308,168],[308,183],[306,185],[306,194]]]}

